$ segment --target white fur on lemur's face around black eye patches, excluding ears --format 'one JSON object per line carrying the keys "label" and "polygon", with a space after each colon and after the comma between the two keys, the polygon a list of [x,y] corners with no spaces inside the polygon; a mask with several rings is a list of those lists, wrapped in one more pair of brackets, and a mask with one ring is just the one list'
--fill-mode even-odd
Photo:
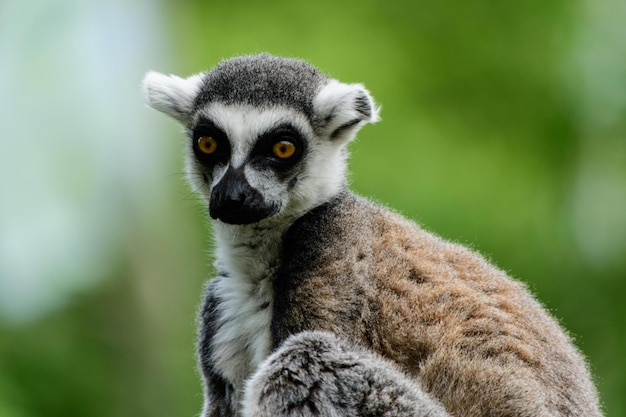
{"label": "white fur on lemur's face around black eye patches, excluding ears", "polygon": [[[283,215],[300,215],[322,204],[339,192],[345,183],[345,155],[341,151],[343,143],[328,138],[317,137],[308,118],[302,113],[287,107],[268,109],[249,105],[226,105],[211,103],[202,109],[195,119],[206,118],[222,129],[231,146],[229,166],[244,168],[248,183],[264,196],[282,207]],[[305,167],[298,175],[296,185],[288,188],[288,181],[279,179],[270,170],[259,171],[246,165],[250,153],[259,137],[276,127],[290,124],[308,142],[307,153],[299,164]],[[210,186],[201,180],[203,169],[189,148],[188,173],[194,190],[209,200],[210,189],[219,183],[228,166],[216,167],[211,173]]]}

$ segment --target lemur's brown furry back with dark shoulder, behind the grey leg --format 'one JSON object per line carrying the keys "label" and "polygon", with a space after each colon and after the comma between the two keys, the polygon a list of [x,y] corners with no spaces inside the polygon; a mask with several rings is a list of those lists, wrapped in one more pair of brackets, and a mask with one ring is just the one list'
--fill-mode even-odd
{"label": "lemur's brown furry back with dark shoulder, behind the grey leg", "polygon": [[600,416],[585,362],[524,285],[349,193],[288,232],[274,345],[328,330],[398,363],[457,416]]}

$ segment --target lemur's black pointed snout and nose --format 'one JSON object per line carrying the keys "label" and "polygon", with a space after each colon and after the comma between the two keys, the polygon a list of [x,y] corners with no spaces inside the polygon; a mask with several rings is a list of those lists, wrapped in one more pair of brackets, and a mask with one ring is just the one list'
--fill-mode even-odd
{"label": "lemur's black pointed snout and nose", "polygon": [[209,214],[228,224],[250,224],[276,213],[276,206],[266,203],[253,188],[243,168],[229,167],[219,183],[211,190]]}

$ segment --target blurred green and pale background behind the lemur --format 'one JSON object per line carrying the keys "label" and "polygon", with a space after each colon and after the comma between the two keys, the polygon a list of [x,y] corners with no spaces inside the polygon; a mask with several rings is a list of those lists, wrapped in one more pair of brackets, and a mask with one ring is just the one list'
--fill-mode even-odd
{"label": "blurred green and pale background behind the lemur", "polygon": [[148,70],[303,57],[383,121],[351,184],[526,282],[626,416],[623,0],[0,1],[0,417],[194,416],[211,271]]}

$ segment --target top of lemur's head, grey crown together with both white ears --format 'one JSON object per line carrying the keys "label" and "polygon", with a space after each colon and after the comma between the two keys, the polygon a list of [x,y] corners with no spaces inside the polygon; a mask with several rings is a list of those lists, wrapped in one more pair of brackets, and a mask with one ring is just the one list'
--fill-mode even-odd
{"label": "top of lemur's head, grey crown together with both white ears", "polygon": [[344,124],[378,120],[378,108],[362,85],[339,83],[306,61],[269,54],[231,58],[189,78],[150,72],[143,86],[149,106],[183,124],[210,103],[283,106],[306,115],[314,128],[346,116],[345,107],[354,111]]}

